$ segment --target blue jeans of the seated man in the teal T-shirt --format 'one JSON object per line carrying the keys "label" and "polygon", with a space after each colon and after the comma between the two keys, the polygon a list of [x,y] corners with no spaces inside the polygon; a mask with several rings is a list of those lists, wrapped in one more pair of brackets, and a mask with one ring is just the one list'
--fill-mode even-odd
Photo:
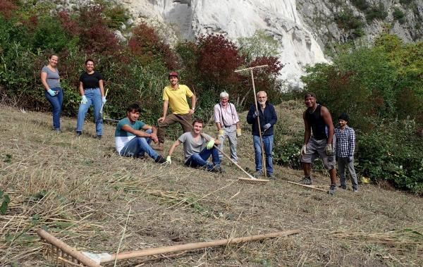
{"label": "blue jeans of the seated man in the teal T-shirt", "polygon": [[[152,133],[152,130],[145,131],[147,133]],[[130,142],[125,144],[125,147],[121,150],[121,156],[133,156],[134,158],[139,158],[144,156],[144,153],[147,153],[148,156],[151,156],[153,159],[157,159],[157,152],[150,147],[152,139],[145,137],[134,137]]]}

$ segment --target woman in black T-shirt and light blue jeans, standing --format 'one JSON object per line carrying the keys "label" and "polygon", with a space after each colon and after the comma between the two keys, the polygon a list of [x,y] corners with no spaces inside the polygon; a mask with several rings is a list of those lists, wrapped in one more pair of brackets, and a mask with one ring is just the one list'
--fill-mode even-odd
{"label": "woman in black T-shirt and light blue jeans, standing", "polygon": [[103,77],[94,70],[94,61],[87,59],[85,61],[85,73],[80,76],[80,94],[81,104],[78,110],[78,118],[76,123],[76,135],[82,134],[82,126],[84,125],[85,115],[90,106],[94,106],[95,134],[97,139],[102,138],[103,134],[103,118],[100,114],[102,106],[106,103],[104,96]]}

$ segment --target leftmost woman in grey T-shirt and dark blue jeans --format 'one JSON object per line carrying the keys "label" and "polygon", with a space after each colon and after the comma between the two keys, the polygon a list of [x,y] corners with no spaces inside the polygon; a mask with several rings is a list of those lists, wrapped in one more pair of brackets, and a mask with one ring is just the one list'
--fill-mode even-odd
{"label": "leftmost woman in grey T-shirt and dark blue jeans", "polygon": [[63,104],[63,90],[60,87],[60,75],[57,69],[59,57],[55,54],[49,56],[49,63],[41,69],[41,82],[44,94],[53,108],[53,128],[60,132],[60,113]]}

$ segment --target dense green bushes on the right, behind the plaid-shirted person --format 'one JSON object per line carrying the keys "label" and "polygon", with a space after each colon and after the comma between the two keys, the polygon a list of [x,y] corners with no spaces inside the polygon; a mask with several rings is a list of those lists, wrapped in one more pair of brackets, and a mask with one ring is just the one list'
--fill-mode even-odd
{"label": "dense green bushes on the right, behind the plaid-shirted person", "polygon": [[372,180],[423,190],[423,44],[392,35],[372,48],[345,50],[333,64],[307,69],[302,80],[331,111],[357,130],[357,169]]}

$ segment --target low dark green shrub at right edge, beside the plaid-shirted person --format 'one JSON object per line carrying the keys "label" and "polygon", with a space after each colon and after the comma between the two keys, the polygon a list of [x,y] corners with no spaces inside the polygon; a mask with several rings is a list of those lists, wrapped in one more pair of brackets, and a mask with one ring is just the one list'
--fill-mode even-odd
{"label": "low dark green shrub at right edge, beside the plaid-shirted person", "polygon": [[403,190],[423,192],[423,152],[413,120],[381,121],[357,138],[357,169],[374,182],[388,180]]}

